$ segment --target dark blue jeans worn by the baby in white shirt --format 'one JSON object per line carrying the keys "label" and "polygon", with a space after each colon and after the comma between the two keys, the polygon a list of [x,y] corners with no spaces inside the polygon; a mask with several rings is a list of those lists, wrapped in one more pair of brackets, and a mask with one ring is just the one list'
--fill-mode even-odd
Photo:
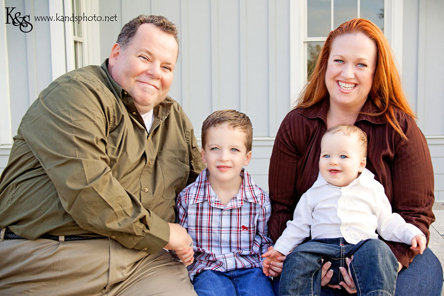
{"label": "dark blue jeans worn by the baby in white shirt", "polygon": [[280,296],[320,296],[322,260],[332,262],[331,284],[343,281],[339,266],[346,269],[350,263],[358,296],[393,296],[398,271],[398,260],[390,248],[378,239],[367,239],[356,245],[344,238],[313,239],[299,245],[287,256],[279,285]]}

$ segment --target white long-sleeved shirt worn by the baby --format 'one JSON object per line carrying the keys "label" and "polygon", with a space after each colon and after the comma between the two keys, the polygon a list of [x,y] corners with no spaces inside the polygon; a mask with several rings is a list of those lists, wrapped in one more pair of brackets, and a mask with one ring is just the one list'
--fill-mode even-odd
{"label": "white long-sleeved shirt worn by the baby", "polygon": [[409,245],[414,236],[424,235],[392,213],[384,187],[368,169],[344,187],[329,184],[319,173],[301,196],[293,220],[287,222],[274,249],[286,255],[310,235],[310,230],[312,239],[343,237],[350,244],[377,238],[375,230],[385,240]]}

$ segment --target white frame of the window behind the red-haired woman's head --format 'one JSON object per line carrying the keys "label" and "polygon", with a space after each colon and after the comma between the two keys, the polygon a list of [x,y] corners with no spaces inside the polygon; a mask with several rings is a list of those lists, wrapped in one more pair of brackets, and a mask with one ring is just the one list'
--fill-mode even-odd
{"label": "white frame of the window behind the red-haired woman's head", "polygon": [[[392,47],[399,73],[402,73],[403,61],[403,8],[403,0],[384,0],[384,34]],[[326,39],[306,37],[306,18],[307,0],[290,1],[290,97],[292,106],[306,81],[306,42],[325,41]]]}

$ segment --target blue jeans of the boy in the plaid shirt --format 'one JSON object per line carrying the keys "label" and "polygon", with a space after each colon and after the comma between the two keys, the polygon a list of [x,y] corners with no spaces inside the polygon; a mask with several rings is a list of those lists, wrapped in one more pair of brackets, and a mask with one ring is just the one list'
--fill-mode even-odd
{"label": "blue jeans of the boy in the plaid shirt", "polygon": [[199,296],[274,296],[271,279],[261,268],[205,270],[193,278]]}

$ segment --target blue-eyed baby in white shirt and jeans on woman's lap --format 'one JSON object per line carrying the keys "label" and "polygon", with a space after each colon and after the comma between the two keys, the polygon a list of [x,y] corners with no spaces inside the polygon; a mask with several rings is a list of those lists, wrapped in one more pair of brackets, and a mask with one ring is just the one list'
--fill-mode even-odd
{"label": "blue-eyed baby in white shirt and jeans on woman's lap", "polygon": [[[356,126],[338,125],[324,134],[318,179],[301,196],[294,220],[287,222],[274,249],[263,255],[263,271],[268,274],[270,261],[297,246],[284,261],[279,295],[321,295],[324,258],[335,270],[341,266],[330,283],[341,282],[358,295],[393,295],[399,263],[377,239],[376,229],[385,240],[410,244],[420,254],[424,251],[424,234],[391,212],[383,186],[365,168],[366,154],[367,136]],[[310,230],[312,240],[299,245]],[[347,265],[353,288],[342,282]]]}

